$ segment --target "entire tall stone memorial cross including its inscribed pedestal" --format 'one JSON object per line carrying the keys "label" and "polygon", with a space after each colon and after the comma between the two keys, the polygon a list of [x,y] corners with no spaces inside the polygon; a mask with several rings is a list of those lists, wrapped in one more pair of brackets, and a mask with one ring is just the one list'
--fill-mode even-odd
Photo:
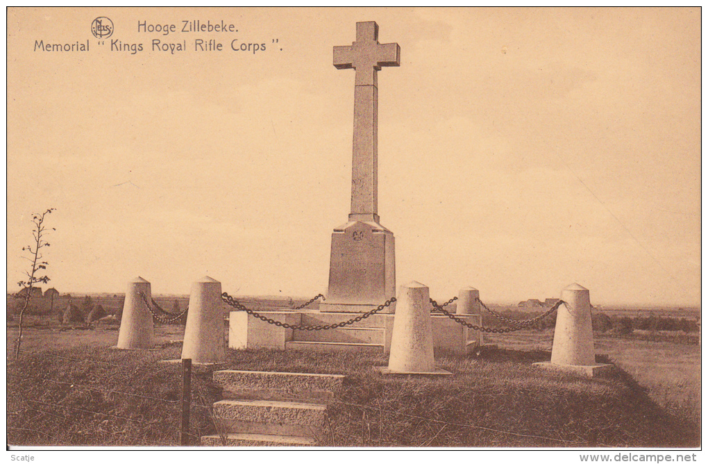
{"label": "entire tall stone memorial cross including its inscribed pedestal", "polygon": [[[368,312],[396,293],[394,234],[379,224],[377,72],[399,66],[396,43],[378,42],[373,21],[356,24],[356,41],[334,47],[334,67],[355,69],[352,198],[348,222],[335,227],[327,300],[321,312]],[[394,305],[384,312],[393,312]]]}

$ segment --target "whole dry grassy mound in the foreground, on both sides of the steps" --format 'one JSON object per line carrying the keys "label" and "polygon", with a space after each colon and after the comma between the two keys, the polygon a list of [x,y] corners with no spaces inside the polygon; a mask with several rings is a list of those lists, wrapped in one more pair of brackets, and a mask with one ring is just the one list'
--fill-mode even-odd
{"label": "whole dry grassy mound in the foreground, on both sides of the steps", "polygon": [[[180,371],[154,351],[106,347],[38,349],[8,360],[8,444],[176,446]],[[29,349],[29,348],[28,348]],[[383,355],[246,350],[229,368],[347,375],[329,408],[321,446],[700,446],[694,421],[660,407],[619,370],[608,378],[538,370],[549,351],[490,350],[478,357],[437,356],[447,378],[382,376]],[[215,434],[210,404],[221,392],[211,373],[192,380],[190,434]]]}

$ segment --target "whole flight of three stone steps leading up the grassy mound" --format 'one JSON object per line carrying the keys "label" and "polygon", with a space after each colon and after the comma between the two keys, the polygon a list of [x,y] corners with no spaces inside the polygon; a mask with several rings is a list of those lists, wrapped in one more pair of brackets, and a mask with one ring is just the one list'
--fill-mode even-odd
{"label": "whole flight of three stone steps leading up the grassy mound", "polygon": [[[224,400],[215,402],[215,426],[226,446],[314,446],[324,433],[326,404],[343,375],[218,370]],[[222,446],[219,435],[202,446]]]}

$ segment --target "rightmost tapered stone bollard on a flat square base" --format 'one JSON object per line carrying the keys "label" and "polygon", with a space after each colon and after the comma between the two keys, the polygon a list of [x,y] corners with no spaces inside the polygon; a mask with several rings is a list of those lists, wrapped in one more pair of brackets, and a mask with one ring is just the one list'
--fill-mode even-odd
{"label": "rightmost tapered stone bollard on a flat square base", "polygon": [[558,308],[551,362],[536,365],[575,370],[590,377],[612,368],[595,362],[590,290],[573,283],[563,289],[561,300],[565,303]]}

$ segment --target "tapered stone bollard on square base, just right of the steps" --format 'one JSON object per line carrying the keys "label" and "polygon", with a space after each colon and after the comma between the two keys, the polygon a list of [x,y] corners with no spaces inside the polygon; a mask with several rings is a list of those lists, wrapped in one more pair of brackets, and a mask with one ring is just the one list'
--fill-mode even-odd
{"label": "tapered stone bollard on square base, just right of the steps", "polygon": [[431,309],[430,291],[426,285],[416,281],[401,285],[396,298],[389,367],[382,372],[450,374],[435,368]]}

